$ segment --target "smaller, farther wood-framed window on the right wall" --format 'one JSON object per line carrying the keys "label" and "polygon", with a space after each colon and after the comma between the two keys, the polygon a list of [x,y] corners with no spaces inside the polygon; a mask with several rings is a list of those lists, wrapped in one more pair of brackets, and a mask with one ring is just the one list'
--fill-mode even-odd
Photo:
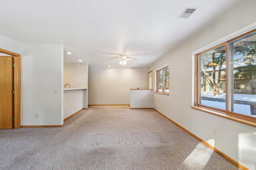
{"label": "smaller, farther wood-framed window on the right wall", "polygon": [[156,92],[169,94],[169,66],[156,70]]}

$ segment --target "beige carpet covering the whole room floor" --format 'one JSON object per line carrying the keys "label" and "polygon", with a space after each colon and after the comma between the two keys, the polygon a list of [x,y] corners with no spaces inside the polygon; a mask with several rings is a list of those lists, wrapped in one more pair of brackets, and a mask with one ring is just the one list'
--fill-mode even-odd
{"label": "beige carpet covering the whole room floor", "polygon": [[91,106],[58,128],[0,130],[0,169],[236,170],[152,109]]}

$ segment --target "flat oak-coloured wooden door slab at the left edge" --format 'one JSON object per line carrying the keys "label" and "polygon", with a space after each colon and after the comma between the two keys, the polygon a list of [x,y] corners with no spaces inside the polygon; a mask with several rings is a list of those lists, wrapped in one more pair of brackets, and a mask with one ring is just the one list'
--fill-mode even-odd
{"label": "flat oak-coloured wooden door slab at the left edge", "polygon": [[13,128],[12,63],[12,56],[0,56],[0,129]]}

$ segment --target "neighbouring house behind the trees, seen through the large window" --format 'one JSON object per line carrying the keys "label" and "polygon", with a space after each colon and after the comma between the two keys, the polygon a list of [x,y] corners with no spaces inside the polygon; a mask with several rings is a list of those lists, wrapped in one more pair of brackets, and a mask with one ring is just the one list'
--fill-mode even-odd
{"label": "neighbouring house behind the trees, seen through the large window", "polygon": [[[249,65],[256,66],[254,57],[250,57],[250,62],[245,60],[243,62],[234,63],[234,93],[235,94],[256,94],[256,76],[252,73],[245,72],[245,68]],[[209,78],[212,80],[212,68],[205,69]],[[216,66],[216,83],[218,80],[219,67]],[[201,74],[201,92],[211,92],[212,86],[207,82],[206,76]],[[220,73],[220,93],[226,93],[226,64],[222,65]]]}

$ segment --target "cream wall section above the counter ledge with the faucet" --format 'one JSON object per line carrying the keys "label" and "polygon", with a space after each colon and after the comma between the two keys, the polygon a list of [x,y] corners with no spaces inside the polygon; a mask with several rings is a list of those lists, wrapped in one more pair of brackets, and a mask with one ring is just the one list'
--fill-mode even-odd
{"label": "cream wall section above the counter ledge with the faucet", "polygon": [[65,84],[70,84],[70,88],[88,88],[88,63],[64,63]]}

